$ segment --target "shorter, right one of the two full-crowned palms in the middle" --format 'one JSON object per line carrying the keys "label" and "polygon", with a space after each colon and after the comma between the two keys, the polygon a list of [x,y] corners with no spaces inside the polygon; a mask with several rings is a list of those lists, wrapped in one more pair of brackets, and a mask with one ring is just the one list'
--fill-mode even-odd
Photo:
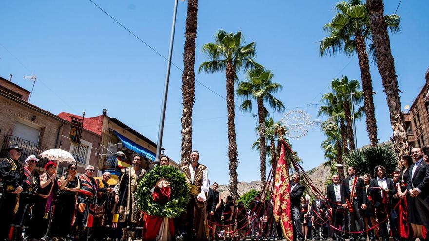
{"label": "shorter, right one of the two full-crowned palms in the middle", "polygon": [[[258,108],[258,121],[259,121],[259,143],[265,147],[265,116],[266,109],[264,102],[269,107],[276,111],[283,111],[284,104],[273,96],[274,93],[280,91],[283,87],[279,83],[273,83],[273,74],[270,70],[252,69],[248,71],[248,81],[240,82],[237,88],[237,95],[241,96],[244,101],[241,104],[242,111],[252,111],[252,100],[256,101]],[[266,166],[265,166],[265,148],[259,149],[260,158],[260,171],[261,171],[261,187],[265,186],[266,180]]]}

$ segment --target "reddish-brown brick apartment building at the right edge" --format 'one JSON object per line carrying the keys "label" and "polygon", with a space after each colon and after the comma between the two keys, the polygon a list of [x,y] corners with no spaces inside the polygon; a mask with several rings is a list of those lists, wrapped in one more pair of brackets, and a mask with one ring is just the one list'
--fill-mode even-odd
{"label": "reddish-brown brick apartment building at the right edge", "polygon": [[409,148],[429,146],[429,68],[425,80],[409,112],[404,113]]}

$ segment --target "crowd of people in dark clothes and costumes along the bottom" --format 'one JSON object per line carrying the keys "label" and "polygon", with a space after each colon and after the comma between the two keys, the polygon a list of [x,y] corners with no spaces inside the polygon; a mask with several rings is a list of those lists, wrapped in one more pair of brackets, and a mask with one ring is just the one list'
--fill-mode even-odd
{"label": "crowd of people in dark clothes and costumes along the bottom", "polygon": [[[58,177],[57,163],[49,161],[45,171],[35,170],[39,159],[31,155],[22,165],[22,149],[14,144],[0,161],[0,240],[276,240],[283,230],[273,215],[273,194],[260,194],[246,208],[232,196],[225,199],[218,184],[209,187],[208,169],[199,163],[198,151],[181,168],[189,185],[189,202],[177,218],[147,215],[137,205],[137,186],[146,173],[141,157],[134,155],[131,167],[122,169],[119,183],[108,184],[111,174],[94,179],[95,168],[85,167],[77,176],[69,164]],[[160,165],[169,165],[168,156]],[[388,178],[386,168],[348,177],[331,177],[326,194],[300,183],[293,173],[289,183],[290,220],[294,239],[344,241],[382,238],[428,240],[429,160],[422,149],[401,156],[402,169]],[[390,175],[389,175],[390,176]],[[154,201],[165,203],[172,190],[168,180],[157,180]],[[307,195],[304,195],[307,193]],[[313,194],[311,198],[309,194]]]}

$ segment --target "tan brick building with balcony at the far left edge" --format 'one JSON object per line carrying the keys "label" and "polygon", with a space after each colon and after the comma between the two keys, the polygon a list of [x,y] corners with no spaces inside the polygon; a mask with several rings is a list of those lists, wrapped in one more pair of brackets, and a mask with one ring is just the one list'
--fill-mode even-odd
{"label": "tan brick building with balcony at the far left edge", "polygon": [[[57,115],[28,103],[30,92],[0,77],[0,157],[7,156],[11,144],[23,150],[20,161],[31,154],[59,147],[59,136],[66,122]],[[46,160],[38,163],[44,167]]]}

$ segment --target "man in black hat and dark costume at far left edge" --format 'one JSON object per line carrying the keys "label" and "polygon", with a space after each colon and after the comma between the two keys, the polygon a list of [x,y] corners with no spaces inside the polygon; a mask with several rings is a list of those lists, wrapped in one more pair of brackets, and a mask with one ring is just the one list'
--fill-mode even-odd
{"label": "man in black hat and dark costume at far left edge", "polygon": [[22,148],[18,144],[9,147],[9,157],[0,160],[0,241],[7,240],[10,224],[17,208],[17,198],[23,191],[24,168],[18,161]]}

